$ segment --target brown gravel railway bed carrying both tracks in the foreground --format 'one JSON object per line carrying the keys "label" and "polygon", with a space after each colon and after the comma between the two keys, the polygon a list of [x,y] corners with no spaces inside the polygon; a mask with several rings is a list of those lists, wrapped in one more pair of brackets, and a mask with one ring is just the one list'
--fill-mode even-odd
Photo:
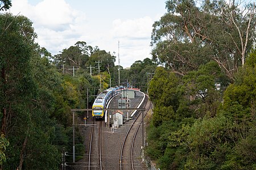
{"label": "brown gravel railway bed carrying both tracks in the foreground", "polygon": [[[146,106],[146,103],[147,97],[145,97],[140,108],[147,108],[148,106]],[[85,134],[88,141],[86,147],[86,152],[88,154],[86,155],[86,158],[84,158],[84,162],[76,164],[76,169],[117,170],[120,169],[120,165],[122,165],[121,169],[134,169],[134,162],[135,168],[141,169],[139,167],[143,167],[143,165],[138,158],[142,143],[138,142],[138,140],[141,141],[141,137],[136,138],[138,132],[138,135],[142,135],[141,130],[139,130],[139,126],[142,124],[142,114],[139,112],[140,111],[135,113],[134,120],[130,120],[125,126],[118,129],[116,133],[109,131],[109,129],[104,126],[104,121],[88,119],[88,123],[94,125],[90,127],[88,126],[87,133]],[[144,113],[146,112],[144,111]],[[131,123],[133,123],[132,126]],[[128,130],[130,131],[129,133],[127,133]],[[126,141],[123,141],[125,135]],[[134,142],[135,138],[137,142]],[[120,154],[121,150],[122,154]],[[134,152],[131,152],[133,150]],[[133,156],[135,159],[132,158]]]}

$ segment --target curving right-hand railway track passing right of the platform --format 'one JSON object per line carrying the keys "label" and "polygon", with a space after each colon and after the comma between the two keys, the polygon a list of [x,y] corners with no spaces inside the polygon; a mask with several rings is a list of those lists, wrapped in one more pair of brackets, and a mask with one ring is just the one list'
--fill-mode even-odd
{"label": "curving right-hand railway track passing right of the platform", "polygon": [[[148,102],[148,97],[145,97],[145,101],[142,104],[141,108],[146,108],[146,112],[150,109],[151,105],[150,102]],[[144,114],[146,116],[146,114]],[[133,148],[135,143],[135,138],[137,136],[139,127],[142,124],[142,113],[138,113],[138,116],[133,121],[133,124],[131,124],[129,130],[127,131],[127,134],[125,138],[123,139],[123,144],[121,148],[121,154],[120,154],[120,169],[134,169],[134,161],[133,161]]]}

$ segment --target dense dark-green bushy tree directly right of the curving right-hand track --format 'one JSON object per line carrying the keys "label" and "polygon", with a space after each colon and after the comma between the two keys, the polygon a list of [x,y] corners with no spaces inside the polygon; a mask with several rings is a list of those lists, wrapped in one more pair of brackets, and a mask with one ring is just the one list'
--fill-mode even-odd
{"label": "dense dark-green bushy tree directly right of the curving right-hand track", "polygon": [[175,111],[179,106],[179,83],[180,79],[174,73],[168,73],[163,67],[156,69],[148,90],[150,100],[155,105],[152,121],[156,127],[163,121],[175,120]]}

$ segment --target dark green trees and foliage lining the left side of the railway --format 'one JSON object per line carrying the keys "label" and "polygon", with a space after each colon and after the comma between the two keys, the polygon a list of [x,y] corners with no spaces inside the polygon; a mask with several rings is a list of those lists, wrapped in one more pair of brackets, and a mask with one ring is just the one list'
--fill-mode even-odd
{"label": "dark green trees and foliage lining the left side of the railway", "polygon": [[[1,14],[0,30],[1,168],[59,169],[63,147],[72,151],[71,108],[85,108],[94,80],[61,75],[26,17]],[[75,140],[83,153],[78,129]]]}

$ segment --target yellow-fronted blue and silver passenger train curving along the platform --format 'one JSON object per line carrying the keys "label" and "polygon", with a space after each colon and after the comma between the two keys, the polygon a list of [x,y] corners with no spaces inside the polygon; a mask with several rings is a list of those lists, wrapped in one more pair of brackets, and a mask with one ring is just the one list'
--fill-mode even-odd
{"label": "yellow-fronted blue and silver passenger train curving along the platform", "polygon": [[[123,88],[123,86],[118,86],[115,88],[111,87],[111,88],[108,88],[107,90],[101,92],[95,99],[92,108],[93,109],[105,109],[109,100],[114,95],[121,93],[122,88]],[[92,111],[92,116],[93,116],[93,118],[97,118],[97,119],[104,118],[104,113],[105,113],[105,111],[103,111],[103,110],[96,110],[96,111]]]}

